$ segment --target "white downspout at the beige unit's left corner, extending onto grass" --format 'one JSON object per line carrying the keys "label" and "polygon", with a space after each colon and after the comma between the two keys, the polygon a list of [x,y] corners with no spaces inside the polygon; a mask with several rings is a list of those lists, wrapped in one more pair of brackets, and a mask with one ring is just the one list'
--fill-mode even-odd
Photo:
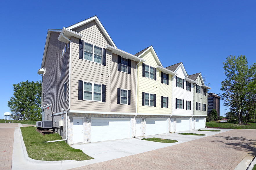
{"label": "white downspout at the beige unit's left corner, extending onto grass", "polygon": [[[68,39],[67,37],[65,37],[62,33],[63,38],[65,38],[66,40],[69,41],[69,88],[68,88],[68,109],[66,110],[66,138],[65,139],[61,139],[61,140],[56,140],[56,141],[47,141],[45,143],[49,143],[49,142],[58,142],[58,141],[66,141],[68,139],[68,111],[70,110],[70,79],[71,79],[71,48],[72,48],[72,44],[71,44],[71,40]],[[64,114],[64,108],[62,108],[61,110],[63,110],[63,114]]]}

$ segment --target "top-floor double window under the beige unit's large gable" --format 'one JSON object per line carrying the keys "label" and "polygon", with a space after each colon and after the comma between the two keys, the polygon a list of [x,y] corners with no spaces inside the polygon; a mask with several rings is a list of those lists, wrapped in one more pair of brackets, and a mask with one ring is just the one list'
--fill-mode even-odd
{"label": "top-floor double window under the beige unit's large gable", "polygon": [[102,48],[84,42],[84,60],[102,64]]}

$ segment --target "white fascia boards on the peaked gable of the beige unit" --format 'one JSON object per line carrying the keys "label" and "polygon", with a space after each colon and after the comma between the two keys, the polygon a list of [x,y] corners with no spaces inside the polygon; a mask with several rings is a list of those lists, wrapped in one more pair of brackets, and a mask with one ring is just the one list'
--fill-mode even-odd
{"label": "white fascia boards on the peaked gable of the beige unit", "polygon": [[[98,17],[95,15],[95,16],[93,16],[93,17],[91,17],[91,18],[89,18],[89,19],[86,19],[86,20],[84,20],[84,21],[81,21],[81,22],[79,22],[79,23],[76,23],[76,24],[74,24],[74,25],[71,25],[71,26],[69,26],[69,27],[67,27],[67,29],[75,29],[75,28],[77,28],[77,27],[80,27],[81,25],[84,25],[84,24],[86,24],[86,23],[89,23],[89,22],[91,22],[91,21],[95,21],[97,24],[98,24],[98,26],[100,27],[100,29],[101,29],[101,31],[103,32],[103,34],[107,37],[107,39],[109,40],[109,42],[110,42],[110,44],[113,46],[113,47],[116,47],[116,45],[115,45],[115,43],[113,42],[113,40],[111,39],[111,37],[109,36],[109,34],[108,34],[108,32],[106,31],[106,29],[103,27],[103,25],[102,25],[102,23],[100,22],[100,20],[98,19]],[[116,47],[117,48],[117,47]]]}

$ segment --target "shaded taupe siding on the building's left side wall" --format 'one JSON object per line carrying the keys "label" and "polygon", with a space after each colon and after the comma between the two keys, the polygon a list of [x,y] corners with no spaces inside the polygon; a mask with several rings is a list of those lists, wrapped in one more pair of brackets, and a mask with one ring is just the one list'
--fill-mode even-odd
{"label": "shaded taupe siding on the building's left side wall", "polygon": [[[62,112],[62,108],[68,108],[69,95],[69,49],[63,57],[61,51],[66,43],[57,38],[60,33],[51,32],[46,53],[43,76],[44,103],[42,106],[51,104],[51,112]],[[67,82],[67,100],[64,101],[64,83]],[[47,119],[47,117],[46,117]]]}

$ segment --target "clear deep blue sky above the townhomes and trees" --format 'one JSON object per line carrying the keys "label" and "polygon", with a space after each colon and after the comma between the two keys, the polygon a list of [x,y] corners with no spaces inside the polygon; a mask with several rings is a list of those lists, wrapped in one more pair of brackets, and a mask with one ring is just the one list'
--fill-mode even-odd
{"label": "clear deep blue sky above the townhomes and trees", "polygon": [[[222,93],[223,62],[256,54],[256,1],[2,1],[0,119],[9,112],[12,84],[39,81],[48,29],[97,15],[119,49],[135,54],[153,45],[164,67],[183,62]],[[220,115],[226,112],[220,106]]]}

